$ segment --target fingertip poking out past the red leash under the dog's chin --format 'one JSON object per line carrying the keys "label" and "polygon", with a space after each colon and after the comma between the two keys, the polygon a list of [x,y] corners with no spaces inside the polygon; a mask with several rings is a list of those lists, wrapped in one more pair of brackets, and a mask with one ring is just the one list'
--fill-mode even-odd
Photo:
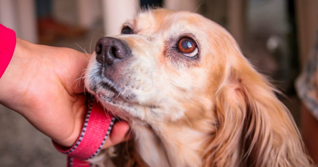
{"label": "fingertip poking out past the red leash under the dog's chin", "polygon": [[116,122],[113,125],[112,131],[110,132],[108,138],[106,139],[102,149],[106,149],[110,146],[114,146],[118,143],[127,141],[132,136],[129,135],[129,125],[127,122],[121,121]]}

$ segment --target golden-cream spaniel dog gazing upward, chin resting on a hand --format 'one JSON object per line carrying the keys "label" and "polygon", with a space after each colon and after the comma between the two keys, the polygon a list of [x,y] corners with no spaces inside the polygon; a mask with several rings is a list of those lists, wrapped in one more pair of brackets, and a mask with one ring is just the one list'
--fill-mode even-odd
{"label": "golden-cream spaniel dog gazing upward, chin resting on a hand", "polygon": [[199,14],[139,13],[99,39],[85,86],[130,124],[132,166],[312,165],[278,91]]}

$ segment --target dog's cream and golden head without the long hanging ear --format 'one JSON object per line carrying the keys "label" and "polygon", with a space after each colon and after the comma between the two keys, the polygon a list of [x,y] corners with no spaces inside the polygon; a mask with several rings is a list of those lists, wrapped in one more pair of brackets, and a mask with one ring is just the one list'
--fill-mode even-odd
{"label": "dog's cream and golden head without the long hanging ear", "polygon": [[139,14],[121,33],[97,42],[86,73],[91,93],[146,122],[211,108],[233,43],[222,27],[198,14],[161,9]]}

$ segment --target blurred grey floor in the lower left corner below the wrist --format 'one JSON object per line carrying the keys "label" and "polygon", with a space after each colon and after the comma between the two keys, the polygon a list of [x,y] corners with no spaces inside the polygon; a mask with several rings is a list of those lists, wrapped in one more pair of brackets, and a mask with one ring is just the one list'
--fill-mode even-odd
{"label": "blurred grey floor in the lower left corner below the wrist", "polygon": [[51,139],[21,115],[0,106],[0,166],[66,166],[65,155],[56,151]]}

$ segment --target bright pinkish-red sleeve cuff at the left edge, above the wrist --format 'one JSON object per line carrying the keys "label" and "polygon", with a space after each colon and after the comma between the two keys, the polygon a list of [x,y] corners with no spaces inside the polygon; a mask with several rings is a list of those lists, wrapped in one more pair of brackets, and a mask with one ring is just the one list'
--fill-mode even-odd
{"label": "bright pinkish-red sleeve cuff at the left edge, above the wrist", "polygon": [[0,24],[0,78],[9,65],[16,42],[16,33]]}

